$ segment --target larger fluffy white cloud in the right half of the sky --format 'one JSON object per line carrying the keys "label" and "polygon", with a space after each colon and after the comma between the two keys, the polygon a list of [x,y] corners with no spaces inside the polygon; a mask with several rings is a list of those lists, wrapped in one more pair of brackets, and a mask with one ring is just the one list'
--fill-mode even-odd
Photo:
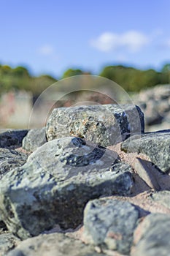
{"label": "larger fluffy white cloud in the right half of the sky", "polygon": [[90,45],[104,52],[117,49],[136,52],[141,50],[149,42],[150,38],[139,31],[126,31],[123,34],[105,32],[98,38],[90,40]]}

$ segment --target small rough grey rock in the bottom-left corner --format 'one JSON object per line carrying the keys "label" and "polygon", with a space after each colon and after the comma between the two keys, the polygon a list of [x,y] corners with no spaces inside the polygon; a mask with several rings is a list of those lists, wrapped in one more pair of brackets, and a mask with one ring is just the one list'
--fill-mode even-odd
{"label": "small rough grey rock in the bottom-left corner", "polygon": [[18,245],[19,239],[13,236],[11,233],[0,233],[0,255],[7,255],[9,250]]}

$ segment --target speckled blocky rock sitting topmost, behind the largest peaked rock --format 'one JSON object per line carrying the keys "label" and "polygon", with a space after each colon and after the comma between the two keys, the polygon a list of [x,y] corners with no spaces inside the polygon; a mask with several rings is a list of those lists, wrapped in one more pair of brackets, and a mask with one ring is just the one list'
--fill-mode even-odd
{"label": "speckled blocky rock sitting topmost, behind the largest peaked rock", "polygon": [[144,132],[144,116],[135,105],[90,105],[55,108],[47,120],[47,140],[76,136],[101,146]]}

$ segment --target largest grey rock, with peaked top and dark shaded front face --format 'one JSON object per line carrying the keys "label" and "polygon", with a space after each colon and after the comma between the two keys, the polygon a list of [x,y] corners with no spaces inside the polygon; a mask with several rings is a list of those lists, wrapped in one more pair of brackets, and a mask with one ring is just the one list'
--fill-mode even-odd
{"label": "largest grey rock, with peaked top and dark shaded front face", "polygon": [[39,147],[23,167],[0,182],[0,214],[22,239],[58,224],[75,228],[90,199],[131,192],[131,167],[117,154],[80,138],[61,138]]}

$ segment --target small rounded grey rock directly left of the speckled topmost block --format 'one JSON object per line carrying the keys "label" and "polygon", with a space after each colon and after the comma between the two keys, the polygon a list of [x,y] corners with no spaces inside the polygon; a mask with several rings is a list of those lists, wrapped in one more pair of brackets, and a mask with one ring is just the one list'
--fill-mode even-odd
{"label": "small rounded grey rock directly left of the speckled topmost block", "polygon": [[35,151],[36,148],[47,142],[45,127],[40,129],[29,130],[26,137],[23,139],[23,148],[27,151]]}

